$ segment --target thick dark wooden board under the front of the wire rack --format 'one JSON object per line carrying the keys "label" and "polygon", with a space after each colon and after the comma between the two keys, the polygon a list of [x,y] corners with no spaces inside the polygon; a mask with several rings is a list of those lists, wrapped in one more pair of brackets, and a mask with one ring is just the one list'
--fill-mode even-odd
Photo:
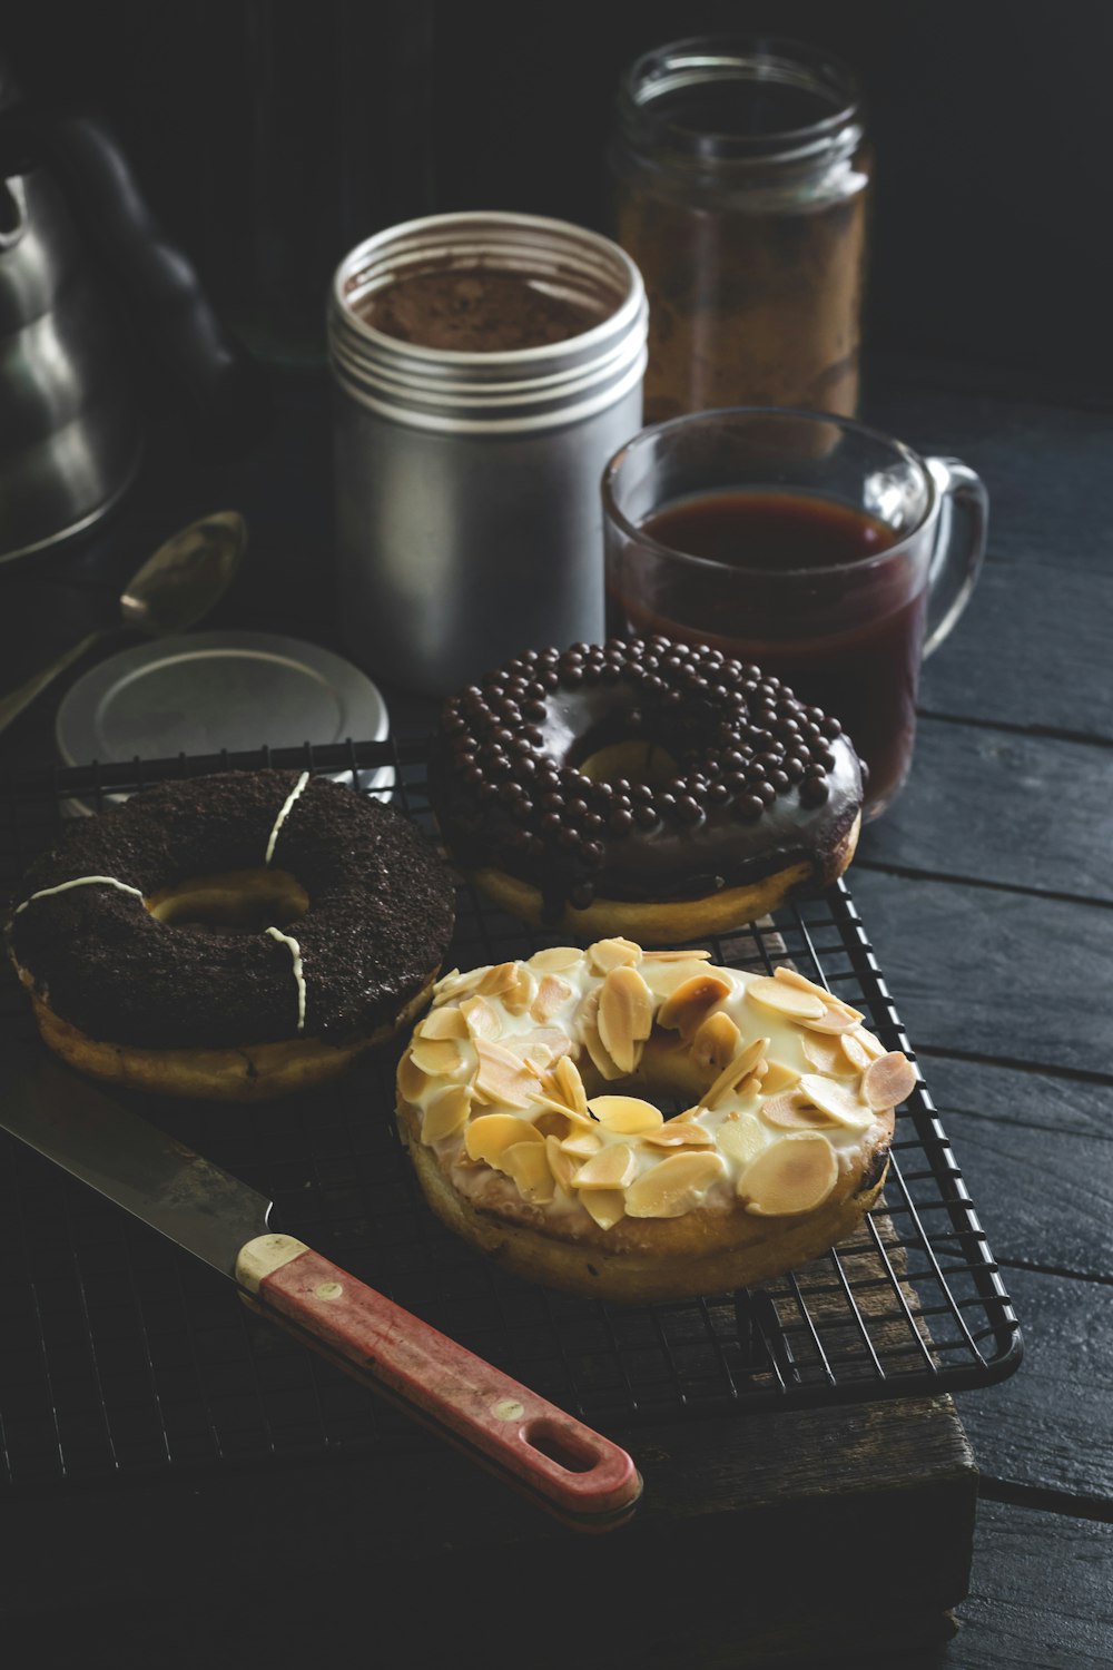
{"label": "thick dark wooden board under the front of the wire rack", "polygon": [[[756,1640],[783,1655],[804,1622],[821,1638],[828,1617],[831,1640],[869,1642],[874,1612],[883,1642],[906,1640],[909,1618],[919,1640],[934,1620],[938,1638],[968,1590],[976,1475],[949,1399],[671,1423],[631,1450],[646,1498],[607,1536],[564,1531],[452,1451],[8,1501],[5,1638],[67,1610],[80,1627],[90,1608],[160,1602],[180,1622],[197,1597],[207,1618],[242,1622],[244,1603],[282,1595],[292,1623],[307,1605],[362,1613],[382,1642],[421,1618],[422,1663],[459,1650],[461,1618],[481,1615],[491,1665],[521,1665],[527,1642],[554,1670],[711,1670],[748,1662]],[[626,1600],[589,1627],[576,1602],[589,1595]]]}

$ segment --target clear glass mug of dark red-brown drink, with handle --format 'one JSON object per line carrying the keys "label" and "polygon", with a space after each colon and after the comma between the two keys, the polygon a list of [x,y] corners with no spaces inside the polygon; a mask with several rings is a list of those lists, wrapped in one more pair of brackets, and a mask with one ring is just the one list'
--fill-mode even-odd
{"label": "clear glass mug of dark red-brown drink, with handle", "polygon": [[980,476],[848,418],[692,412],[602,478],[607,631],[708,643],[834,715],[866,817],[911,768],[919,666],[963,613],[988,528]]}

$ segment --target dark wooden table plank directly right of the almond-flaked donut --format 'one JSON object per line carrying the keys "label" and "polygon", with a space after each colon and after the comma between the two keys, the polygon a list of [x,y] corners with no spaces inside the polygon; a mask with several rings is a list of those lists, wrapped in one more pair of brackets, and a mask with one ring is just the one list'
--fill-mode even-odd
{"label": "dark wooden table plank directly right of the almond-flaked donut", "polygon": [[993,1254],[1113,1281],[1111,1092],[980,1062],[924,1070]]}

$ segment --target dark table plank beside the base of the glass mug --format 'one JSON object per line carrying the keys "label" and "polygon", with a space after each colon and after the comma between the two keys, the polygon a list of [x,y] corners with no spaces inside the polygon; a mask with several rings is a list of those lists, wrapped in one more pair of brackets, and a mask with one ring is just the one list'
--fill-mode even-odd
{"label": "dark table plank beside the base of the glass mug", "polygon": [[911,775],[856,863],[1110,903],[1113,750],[924,716]]}

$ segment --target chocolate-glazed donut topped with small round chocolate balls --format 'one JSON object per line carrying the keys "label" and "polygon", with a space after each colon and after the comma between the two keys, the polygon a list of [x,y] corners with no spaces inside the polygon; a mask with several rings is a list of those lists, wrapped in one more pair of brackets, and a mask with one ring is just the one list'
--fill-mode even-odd
{"label": "chocolate-glazed donut topped with small round chocolate balls", "polygon": [[452,858],[506,908],[657,944],[821,890],[861,822],[838,718],[659,636],[531,650],[461,691],[431,787]]}

